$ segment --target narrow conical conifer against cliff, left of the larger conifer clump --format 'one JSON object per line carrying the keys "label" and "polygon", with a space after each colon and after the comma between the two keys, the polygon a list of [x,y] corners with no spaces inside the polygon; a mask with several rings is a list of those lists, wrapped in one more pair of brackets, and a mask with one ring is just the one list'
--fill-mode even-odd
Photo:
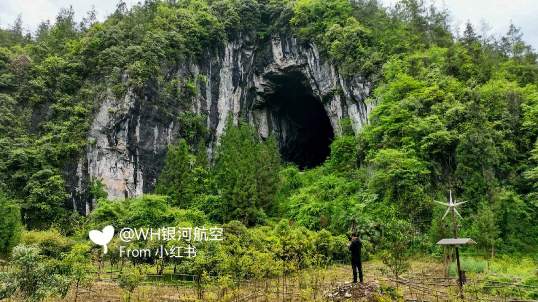
{"label": "narrow conical conifer against cliff, left of the larger conifer clump", "polygon": [[176,206],[185,207],[190,202],[189,182],[187,143],[181,139],[177,147],[168,146],[165,166],[162,168],[155,193],[168,195]]}

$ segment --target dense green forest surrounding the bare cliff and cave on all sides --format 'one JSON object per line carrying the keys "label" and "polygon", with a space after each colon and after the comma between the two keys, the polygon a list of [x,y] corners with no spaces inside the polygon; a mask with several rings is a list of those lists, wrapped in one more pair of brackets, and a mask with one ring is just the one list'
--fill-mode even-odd
{"label": "dense green forest surrounding the bare cliff and cave on all sides", "polygon": [[[497,37],[467,23],[459,34],[447,11],[415,0],[392,8],[376,0],[120,2],[103,23],[95,11],[80,23],[74,13],[62,9],[36,32],[23,30],[20,17],[0,30],[2,266],[61,259],[39,264],[41,272],[69,266],[78,286],[84,255],[120,262],[119,240],[100,254],[87,240],[91,229],[223,224],[224,243],[201,245],[174,272],[272,278],[320,258],[349,260],[350,217],[367,257],[390,252],[385,235],[394,231],[412,234],[407,254],[439,256],[435,243],[451,236],[451,221],[440,219],[445,208],[434,200],[446,202],[449,189],[468,201],[459,235],[479,248],[466,253],[536,261],[538,65],[515,25]],[[87,131],[105,97],[134,91],[187,111],[196,82],[171,70],[238,34],[263,43],[277,32],[317,45],[342,74],[373,83],[370,123],[353,129],[341,120],[343,135],[322,165],[284,162],[271,136],[260,141],[252,125],[232,118],[208,156],[205,117],[188,113],[178,117],[185,127],[168,146],[154,194],[109,200],[95,179],[94,212],[66,207],[66,166],[93,144]],[[131,261],[156,265],[158,275],[165,268],[159,259]],[[62,293],[60,275],[49,276],[47,290]],[[0,298],[15,288],[31,300],[44,294],[13,284],[0,286]]]}

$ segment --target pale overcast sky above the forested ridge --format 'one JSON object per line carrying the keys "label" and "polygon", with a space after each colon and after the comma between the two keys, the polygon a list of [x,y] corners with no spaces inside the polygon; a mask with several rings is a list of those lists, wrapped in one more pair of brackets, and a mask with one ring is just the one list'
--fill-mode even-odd
{"label": "pale overcast sky above the forested ridge", "polygon": [[[380,0],[385,6],[390,6],[398,0]],[[489,36],[505,34],[510,21],[521,27],[523,40],[538,50],[538,3],[536,0],[426,0],[433,1],[437,7],[445,5],[451,12],[452,26],[463,32],[465,22],[469,19],[478,29],[484,20],[491,30]],[[138,0],[125,0],[130,7]],[[534,3],[533,3],[534,2]],[[0,27],[8,28],[22,13],[23,26],[26,30],[34,32],[42,20],[50,19],[54,22],[58,11],[73,5],[75,17],[81,20],[86,12],[95,5],[97,19],[103,21],[106,16],[114,12],[118,1],[116,0],[1,0],[0,1]]]}

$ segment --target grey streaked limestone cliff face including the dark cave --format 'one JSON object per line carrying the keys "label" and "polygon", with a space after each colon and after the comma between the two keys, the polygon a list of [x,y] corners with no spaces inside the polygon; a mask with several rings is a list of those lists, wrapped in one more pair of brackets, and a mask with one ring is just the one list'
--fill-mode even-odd
{"label": "grey streaked limestone cliff face including the dark cave", "polygon": [[[345,79],[315,45],[284,34],[264,44],[238,35],[186,62],[176,75],[206,76],[189,110],[207,116],[209,157],[232,114],[234,122],[253,124],[260,139],[273,133],[285,160],[312,167],[327,157],[330,139],[341,135],[342,118],[350,117],[358,130],[374,106],[364,102],[371,87],[360,74]],[[166,110],[131,91],[122,99],[105,99],[88,133],[91,144],[66,171],[68,206],[86,214],[94,208],[87,189],[91,179],[102,181],[109,198],[153,192],[167,145],[179,139],[179,109]]]}

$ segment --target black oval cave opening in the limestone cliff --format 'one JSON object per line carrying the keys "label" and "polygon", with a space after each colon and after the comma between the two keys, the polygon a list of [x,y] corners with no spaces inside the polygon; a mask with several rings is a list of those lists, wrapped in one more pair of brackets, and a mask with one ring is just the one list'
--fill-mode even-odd
{"label": "black oval cave opening in the limestone cliff", "polygon": [[322,164],[330,154],[334,132],[321,100],[314,97],[300,72],[269,79],[276,88],[266,104],[272,120],[279,123],[277,139],[282,159],[301,169]]}

